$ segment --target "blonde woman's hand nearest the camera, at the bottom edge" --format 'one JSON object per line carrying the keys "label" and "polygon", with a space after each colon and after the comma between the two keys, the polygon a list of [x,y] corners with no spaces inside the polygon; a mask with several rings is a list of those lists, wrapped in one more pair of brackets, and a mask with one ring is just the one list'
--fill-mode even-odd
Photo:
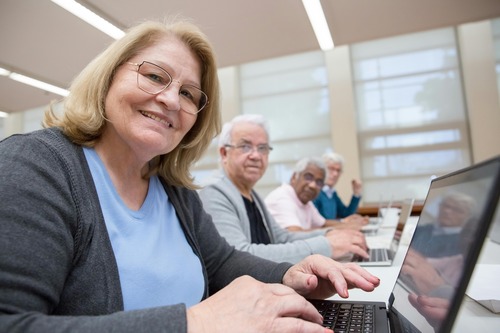
{"label": "blonde woman's hand nearest the camera, at the bottom edge", "polygon": [[314,306],[293,289],[243,276],[187,310],[188,333],[331,332]]}

